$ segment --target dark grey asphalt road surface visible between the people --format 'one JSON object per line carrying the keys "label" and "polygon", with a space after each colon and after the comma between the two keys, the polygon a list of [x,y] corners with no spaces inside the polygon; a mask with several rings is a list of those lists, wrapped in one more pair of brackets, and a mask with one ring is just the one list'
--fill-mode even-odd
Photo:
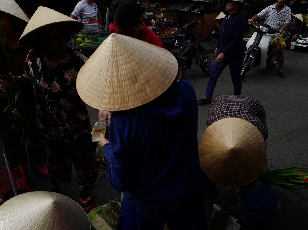
{"label": "dark grey asphalt road surface visible between the people", "polygon": [[[212,56],[212,54],[210,54]],[[267,127],[269,137],[267,139],[268,165],[270,170],[295,167],[308,164],[307,157],[307,137],[308,137],[308,78],[307,78],[307,57],[308,53],[294,52],[285,50],[284,72],[286,78],[278,77],[278,66],[272,69],[260,70],[253,67],[249,71],[242,84],[242,94],[251,96],[259,100],[266,112]],[[213,58],[211,58],[213,61]],[[193,61],[194,62],[194,61]],[[204,76],[199,67],[193,63],[191,70],[185,71],[183,80],[192,83],[197,97],[205,96],[205,89],[208,77]],[[227,67],[217,81],[213,99],[221,95],[232,95],[233,85]],[[207,113],[209,105],[198,105],[198,138],[206,128]],[[97,112],[89,108],[91,122],[97,121]],[[3,149],[2,137],[0,137],[0,148]],[[0,154],[0,172],[6,170],[3,156]],[[223,170],[223,169],[222,169]],[[79,192],[77,187],[76,174],[70,184],[63,183],[61,192],[63,195],[79,202]],[[29,188],[32,191],[49,191],[48,178],[29,170],[26,176]],[[257,186],[257,185],[256,185]],[[298,229],[306,230],[306,218],[308,216],[308,203],[297,196],[273,186],[278,195],[276,216],[274,219],[259,226],[245,227],[241,220],[237,222],[242,226],[241,229]],[[224,186],[217,187],[218,195],[215,204],[221,208],[231,211],[231,215],[239,218],[236,202],[236,188]],[[120,193],[115,191],[111,185],[107,185],[106,178],[100,181],[92,189],[94,198],[93,207],[107,204],[108,200],[116,199],[120,201]],[[308,191],[302,192],[303,196],[308,197]]]}

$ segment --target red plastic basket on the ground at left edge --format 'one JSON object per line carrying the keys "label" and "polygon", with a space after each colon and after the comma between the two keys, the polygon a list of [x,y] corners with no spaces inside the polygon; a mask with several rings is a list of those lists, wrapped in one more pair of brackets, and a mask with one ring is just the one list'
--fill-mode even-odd
{"label": "red plastic basket on the ground at left edge", "polygon": [[[17,190],[25,188],[27,192],[31,192],[30,189],[28,188],[25,179],[25,173],[22,171],[21,165],[19,165],[19,168],[11,169],[11,171],[15,182],[15,188]],[[6,170],[0,173],[0,193],[2,196],[2,204],[6,201],[4,194],[6,194],[6,192],[9,192],[10,190],[13,190],[13,188],[10,181],[9,173]]]}

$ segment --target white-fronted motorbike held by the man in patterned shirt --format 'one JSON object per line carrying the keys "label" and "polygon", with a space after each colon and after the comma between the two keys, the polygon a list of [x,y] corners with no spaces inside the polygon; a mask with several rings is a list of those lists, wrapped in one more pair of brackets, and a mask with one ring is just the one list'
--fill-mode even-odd
{"label": "white-fronted motorbike held by the man in patterned shirt", "polygon": [[[246,44],[247,51],[241,68],[242,80],[252,66],[260,65],[260,69],[265,69],[265,67],[273,68],[278,63],[278,57],[273,53],[274,48],[269,45],[270,36],[267,34],[271,31],[276,33],[279,31],[264,23],[253,22],[252,24],[246,23],[246,25],[253,26],[257,32],[253,33]],[[283,34],[284,40],[287,40],[289,36],[290,33],[285,32]]]}

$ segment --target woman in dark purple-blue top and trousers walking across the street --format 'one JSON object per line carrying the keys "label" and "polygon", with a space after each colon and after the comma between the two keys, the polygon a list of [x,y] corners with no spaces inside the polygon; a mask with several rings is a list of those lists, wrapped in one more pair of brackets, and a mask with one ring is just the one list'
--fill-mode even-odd
{"label": "woman in dark purple-blue top and trousers walking across the street", "polygon": [[210,71],[205,97],[197,98],[198,102],[211,103],[215,85],[221,72],[229,65],[233,82],[233,95],[241,95],[241,67],[245,56],[243,43],[245,19],[240,13],[244,0],[229,0],[226,9],[229,12],[220,27],[220,40],[214,51],[215,62]]}

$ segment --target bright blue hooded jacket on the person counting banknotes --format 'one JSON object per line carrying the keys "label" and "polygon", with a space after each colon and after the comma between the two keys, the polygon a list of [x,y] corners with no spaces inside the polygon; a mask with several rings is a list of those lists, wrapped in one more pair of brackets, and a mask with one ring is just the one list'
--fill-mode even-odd
{"label": "bright blue hooded jacket on the person counting banknotes", "polygon": [[126,208],[158,221],[203,202],[197,118],[188,81],[172,83],[145,105],[112,113],[103,150],[109,183],[124,193]]}

